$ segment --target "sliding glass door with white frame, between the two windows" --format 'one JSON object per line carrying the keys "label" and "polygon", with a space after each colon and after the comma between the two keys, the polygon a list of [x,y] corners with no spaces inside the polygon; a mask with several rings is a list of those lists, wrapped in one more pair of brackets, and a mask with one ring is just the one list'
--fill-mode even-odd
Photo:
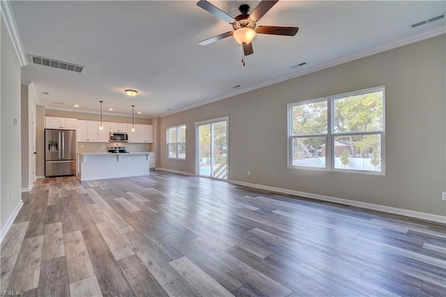
{"label": "sliding glass door with white frame, between the two windows", "polygon": [[228,179],[228,118],[195,123],[199,176]]}

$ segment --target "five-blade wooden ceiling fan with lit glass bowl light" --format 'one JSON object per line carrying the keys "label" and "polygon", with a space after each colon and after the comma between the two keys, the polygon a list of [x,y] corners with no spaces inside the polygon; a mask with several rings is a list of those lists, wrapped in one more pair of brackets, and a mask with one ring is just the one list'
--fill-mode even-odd
{"label": "five-blade wooden ceiling fan with lit glass bowl light", "polygon": [[213,6],[206,0],[200,0],[197,2],[197,6],[203,8],[204,10],[212,13],[216,17],[220,17],[220,19],[225,22],[229,22],[232,25],[234,31],[229,31],[226,33],[222,33],[220,35],[202,40],[199,42],[199,45],[209,45],[210,43],[215,43],[218,40],[222,40],[223,38],[233,36],[236,38],[237,42],[243,46],[243,59],[242,63],[245,66],[245,56],[249,54],[254,54],[254,50],[252,48],[252,40],[256,37],[256,33],[259,34],[272,34],[272,35],[282,35],[282,36],[295,36],[298,33],[299,28],[295,26],[256,26],[256,22],[258,22],[263,15],[268,13],[268,10],[272,8],[279,0],[270,1],[270,0],[262,0],[259,5],[254,9],[254,11],[249,14],[249,5],[242,4],[238,8],[240,10],[240,15],[236,17],[231,17],[220,8]]}

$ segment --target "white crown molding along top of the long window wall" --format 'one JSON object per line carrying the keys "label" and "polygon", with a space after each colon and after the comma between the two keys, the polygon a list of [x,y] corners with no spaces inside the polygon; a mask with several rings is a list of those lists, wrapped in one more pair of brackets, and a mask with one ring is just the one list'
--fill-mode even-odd
{"label": "white crown molding along top of the long window wall", "polygon": [[242,93],[247,93],[249,91],[254,91],[256,89],[261,89],[261,88],[263,88],[265,86],[270,86],[272,84],[277,84],[279,82],[285,82],[287,80],[294,79],[296,77],[300,77],[300,76],[303,76],[303,75],[307,75],[309,73],[314,73],[314,72],[319,71],[319,70],[323,70],[323,69],[327,69],[327,68],[330,68],[330,67],[333,67],[333,66],[341,65],[341,64],[344,64],[344,63],[347,63],[347,62],[350,62],[350,61],[355,61],[355,60],[358,60],[358,59],[362,59],[362,58],[365,58],[366,56],[372,56],[374,54],[379,54],[380,52],[385,52],[387,50],[392,50],[392,49],[397,48],[397,47],[402,47],[404,45],[409,45],[410,43],[416,43],[418,41],[422,41],[422,40],[425,40],[425,39],[428,39],[428,38],[439,36],[439,35],[445,34],[445,33],[446,33],[446,26],[443,24],[442,26],[436,26],[436,27],[431,28],[429,30],[422,31],[422,32],[419,32],[419,33],[415,33],[415,34],[413,34],[411,36],[407,36],[407,37],[401,38],[399,40],[394,40],[394,41],[392,41],[390,43],[385,43],[385,44],[382,44],[382,45],[378,45],[376,47],[371,47],[370,49],[363,50],[363,51],[360,51],[360,52],[355,52],[353,54],[350,54],[350,55],[347,55],[347,56],[343,56],[343,57],[341,57],[339,59],[333,59],[333,60],[330,60],[330,61],[326,61],[324,63],[319,63],[319,64],[317,64],[315,66],[312,66],[312,67],[304,68],[304,69],[300,70],[298,73],[292,73],[291,75],[286,75],[284,77],[279,77],[277,79],[273,79],[273,80],[270,80],[268,82],[263,82],[261,84],[256,84],[255,86],[250,86],[249,88],[241,89],[241,90],[239,90],[237,92],[227,93],[224,96],[211,98],[210,100],[206,100],[204,102],[199,102],[197,104],[190,105],[188,107],[183,107],[183,108],[180,108],[180,109],[176,109],[174,111],[167,112],[167,113],[164,113],[164,114],[159,114],[157,116],[158,117],[163,117],[163,116],[169,116],[171,114],[177,114],[178,112],[184,112],[187,109],[192,109],[192,108],[195,108],[195,107],[199,107],[201,105],[206,105],[206,104],[209,104],[209,103],[212,103],[212,102],[215,102],[215,101],[219,101],[219,100],[223,100],[223,99],[226,99],[226,98],[231,98],[233,96],[237,96],[237,95],[240,95]]}

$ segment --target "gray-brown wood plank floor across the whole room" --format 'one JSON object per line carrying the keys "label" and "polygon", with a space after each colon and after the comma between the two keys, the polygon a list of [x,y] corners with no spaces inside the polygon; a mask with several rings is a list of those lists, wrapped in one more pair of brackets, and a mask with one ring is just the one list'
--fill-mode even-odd
{"label": "gray-brown wood plank floor across the whole room", "polygon": [[1,244],[25,296],[445,296],[446,226],[152,172],[45,178]]}

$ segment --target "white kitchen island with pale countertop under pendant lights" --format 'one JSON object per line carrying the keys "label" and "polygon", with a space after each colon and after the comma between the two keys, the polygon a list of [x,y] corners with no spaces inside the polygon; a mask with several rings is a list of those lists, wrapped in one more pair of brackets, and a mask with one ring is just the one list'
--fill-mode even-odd
{"label": "white kitchen island with pale countertop under pendant lights", "polygon": [[141,153],[78,153],[78,174],[81,181],[103,178],[149,175],[149,152]]}

